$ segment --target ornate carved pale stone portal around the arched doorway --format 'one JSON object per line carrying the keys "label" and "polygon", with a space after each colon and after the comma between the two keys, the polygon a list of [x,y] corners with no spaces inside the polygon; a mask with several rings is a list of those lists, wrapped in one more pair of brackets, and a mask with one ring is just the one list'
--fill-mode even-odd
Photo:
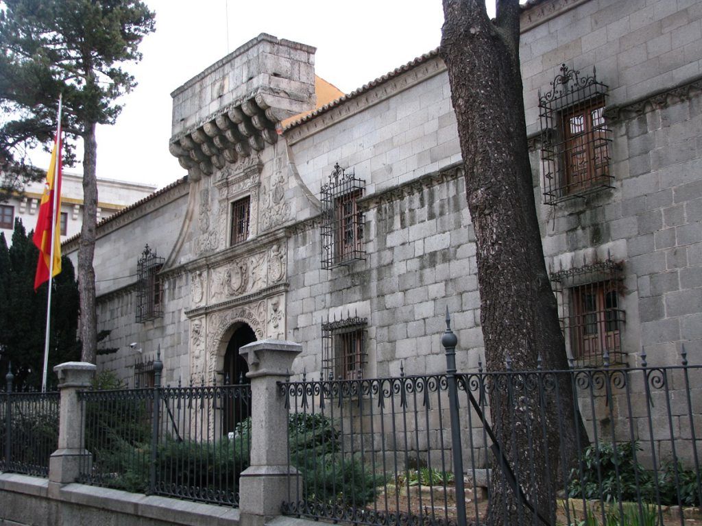
{"label": "ornate carved pale stone portal around the arched doorway", "polygon": [[[190,372],[194,382],[212,382],[222,367],[232,330],[249,325],[257,339],[286,336],[287,245],[281,232],[259,234],[259,188],[265,189],[263,209],[267,230],[289,215],[284,201],[282,170],[273,184],[261,182],[263,163],[258,155],[225,166],[197,189],[198,217],[194,224],[194,252],[190,269]],[[275,180],[277,177],[277,180]],[[249,236],[227,247],[231,203],[249,197]],[[287,208],[285,208],[287,207]],[[281,213],[281,210],[283,213]]]}

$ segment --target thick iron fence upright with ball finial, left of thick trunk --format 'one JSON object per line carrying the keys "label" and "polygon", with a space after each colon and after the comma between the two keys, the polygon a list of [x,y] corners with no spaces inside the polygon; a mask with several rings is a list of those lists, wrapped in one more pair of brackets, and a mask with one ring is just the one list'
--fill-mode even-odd
{"label": "thick iron fence upright with ball finial, left of thick trunk", "polygon": [[456,518],[458,526],[465,526],[465,487],[463,485],[463,451],[461,448],[461,419],[458,414],[456,382],[456,344],[458,337],[451,330],[451,316],[446,306],[446,330],[441,338],[446,350],[446,375],[449,381],[449,414],[451,415],[451,446],[453,449],[453,476],[456,479]]}

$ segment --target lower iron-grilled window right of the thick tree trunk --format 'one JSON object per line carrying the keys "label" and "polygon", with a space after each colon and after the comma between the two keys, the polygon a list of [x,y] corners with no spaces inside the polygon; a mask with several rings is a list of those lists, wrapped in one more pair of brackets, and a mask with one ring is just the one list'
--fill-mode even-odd
{"label": "lower iron-grilled window right of the thick tree trunk", "polygon": [[624,363],[621,266],[611,259],[551,274],[561,326],[578,365]]}

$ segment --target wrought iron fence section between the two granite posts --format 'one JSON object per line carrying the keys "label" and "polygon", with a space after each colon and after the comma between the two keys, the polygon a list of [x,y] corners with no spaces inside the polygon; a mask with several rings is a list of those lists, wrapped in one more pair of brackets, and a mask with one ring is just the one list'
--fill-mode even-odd
{"label": "wrought iron fence section between the two granite posts", "polygon": [[[249,466],[248,384],[83,391],[86,484],[237,506]],[[226,429],[234,422],[233,429]]]}

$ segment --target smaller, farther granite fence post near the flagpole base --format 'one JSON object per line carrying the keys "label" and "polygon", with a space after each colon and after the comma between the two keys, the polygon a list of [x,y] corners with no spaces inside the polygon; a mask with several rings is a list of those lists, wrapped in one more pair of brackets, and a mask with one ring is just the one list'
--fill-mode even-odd
{"label": "smaller, farther granite fence post near the flagpole base", "polygon": [[58,450],[51,454],[48,480],[67,484],[77,480],[81,459],[90,453],[83,447],[85,419],[78,391],[88,389],[95,375],[95,365],[86,362],[67,362],[56,365],[60,405],[58,413]]}

